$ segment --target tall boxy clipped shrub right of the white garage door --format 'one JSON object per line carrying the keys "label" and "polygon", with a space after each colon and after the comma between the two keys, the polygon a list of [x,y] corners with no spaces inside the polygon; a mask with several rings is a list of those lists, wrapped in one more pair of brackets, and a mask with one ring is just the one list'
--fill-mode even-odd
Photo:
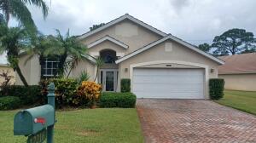
{"label": "tall boxy clipped shrub right of the white garage door", "polygon": [[209,80],[210,98],[219,100],[224,96],[224,79],[212,78]]}

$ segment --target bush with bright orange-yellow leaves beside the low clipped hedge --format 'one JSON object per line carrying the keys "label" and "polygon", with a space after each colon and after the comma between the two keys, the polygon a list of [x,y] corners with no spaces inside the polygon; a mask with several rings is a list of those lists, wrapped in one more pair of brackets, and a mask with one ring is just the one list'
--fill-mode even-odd
{"label": "bush with bright orange-yellow leaves beside the low clipped hedge", "polygon": [[102,85],[95,82],[84,81],[79,86],[78,92],[73,99],[76,106],[94,106],[102,93]]}

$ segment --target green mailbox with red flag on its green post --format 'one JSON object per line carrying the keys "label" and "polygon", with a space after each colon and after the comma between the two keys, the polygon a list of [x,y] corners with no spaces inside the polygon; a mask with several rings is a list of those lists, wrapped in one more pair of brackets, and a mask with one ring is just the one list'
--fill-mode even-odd
{"label": "green mailbox with red flag on its green post", "polygon": [[15,114],[14,134],[27,136],[27,143],[53,143],[55,125],[55,84],[49,83],[48,104]]}

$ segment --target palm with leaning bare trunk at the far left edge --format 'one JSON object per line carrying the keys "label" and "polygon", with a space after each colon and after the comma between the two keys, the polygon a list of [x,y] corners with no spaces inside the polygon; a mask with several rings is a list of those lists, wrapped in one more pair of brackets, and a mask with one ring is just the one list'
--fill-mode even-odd
{"label": "palm with leaning bare trunk at the far left edge", "polygon": [[20,51],[26,50],[31,45],[31,39],[23,27],[8,27],[0,25],[0,54],[7,52],[10,66],[16,71],[25,86],[26,78],[23,76],[19,66]]}

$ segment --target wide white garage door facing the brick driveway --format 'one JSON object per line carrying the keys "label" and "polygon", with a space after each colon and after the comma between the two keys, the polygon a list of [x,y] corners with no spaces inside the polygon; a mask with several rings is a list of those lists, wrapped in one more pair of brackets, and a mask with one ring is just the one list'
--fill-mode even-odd
{"label": "wide white garage door facing the brick driveway", "polygon": [[137,98],[204,99],[204,70],[135,68]]}

